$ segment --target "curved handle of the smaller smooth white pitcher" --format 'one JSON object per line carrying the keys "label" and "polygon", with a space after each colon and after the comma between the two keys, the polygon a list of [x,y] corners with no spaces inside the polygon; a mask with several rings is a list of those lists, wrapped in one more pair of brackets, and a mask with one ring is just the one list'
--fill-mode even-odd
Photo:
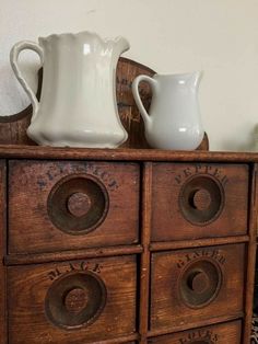
{"label": "curved handle of the smaller smooth white pitcher", "polygon": [[141,96],[139,93],[139,83],[142,81],[145,81],[151,85],[153,93],[156,91],[157,82],[156,82],[156,80],[152,79],[151,77],[143,76],[143,74],[138,76],[132,82],[132,94],[133,94],[133,98],[136,100],[137,106],[141,113],[141,116],[143,118],[145,126],[150,126],[152,123],[152,119],[151,119],[151,116],[148,114],[145,107],[143,106],[142,101],[141,101]]}

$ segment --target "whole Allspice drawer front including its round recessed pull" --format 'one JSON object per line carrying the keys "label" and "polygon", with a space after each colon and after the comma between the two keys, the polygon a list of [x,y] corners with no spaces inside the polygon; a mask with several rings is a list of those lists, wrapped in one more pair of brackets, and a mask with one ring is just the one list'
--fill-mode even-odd
{"label": "whole Allspice drawer front including its round recessed pull", "polygon": [[138,164],[10,162],[10,253],[130,244],[138,217]]}

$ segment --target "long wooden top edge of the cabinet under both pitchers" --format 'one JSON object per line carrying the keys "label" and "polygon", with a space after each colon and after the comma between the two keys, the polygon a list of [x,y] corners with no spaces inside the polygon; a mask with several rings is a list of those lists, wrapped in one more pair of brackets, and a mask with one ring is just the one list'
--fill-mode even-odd
{"label": "long wooden top edge of the cabinet under both pitchers", "polygon": [[113,161],[258,162],[255,152],[169,151],[157,149],[86,149],[0,145],[0,158]]}

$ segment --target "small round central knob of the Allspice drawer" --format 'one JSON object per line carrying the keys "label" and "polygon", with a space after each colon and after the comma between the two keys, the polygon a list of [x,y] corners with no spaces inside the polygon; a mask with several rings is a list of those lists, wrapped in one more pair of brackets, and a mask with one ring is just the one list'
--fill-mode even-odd
{"label": "small round central knob of the Allspice drawer", "polygon": [[71,215],[81,217],[91,208],[91,199],[84,193],[74,193],[67,200],[67,207]]}

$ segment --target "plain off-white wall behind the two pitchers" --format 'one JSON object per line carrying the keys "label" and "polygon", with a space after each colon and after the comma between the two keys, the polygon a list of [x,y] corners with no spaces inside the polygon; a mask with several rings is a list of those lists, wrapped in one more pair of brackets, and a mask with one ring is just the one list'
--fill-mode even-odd
{"label": "plain off-white wall behind the two pitchers", "polygon": [[[12,45],[84,30],[126,36],[131,49],[125,56],[159,72],[203,70],[199,101],[211,149],[253,149],[258,0],[0,0],[1,115],[28,104],[9,66]],[[35,85],[34,60],[23,54]]]}

